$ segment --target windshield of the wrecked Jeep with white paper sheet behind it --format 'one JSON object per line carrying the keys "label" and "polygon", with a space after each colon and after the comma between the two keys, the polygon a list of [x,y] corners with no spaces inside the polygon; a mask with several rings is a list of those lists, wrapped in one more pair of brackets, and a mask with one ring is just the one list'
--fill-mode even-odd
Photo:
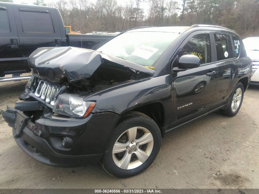
{"label": "windshield of the wrecked Jeep with white paper sheet behind it", "polygon": [[143,66],[154,67],[154,62],[179,36],[173,32],[125,32],[97,49]]}

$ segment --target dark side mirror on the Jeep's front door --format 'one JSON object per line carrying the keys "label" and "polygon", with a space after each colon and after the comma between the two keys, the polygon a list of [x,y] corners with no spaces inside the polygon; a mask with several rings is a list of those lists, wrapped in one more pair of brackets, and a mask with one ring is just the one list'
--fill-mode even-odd
{"label": "dark side mirror on the Jeep's front door", "polygon": [[196,55],[182,55],[178,61],[178,68],[192,69],[199,67],[201,64],[200,58]]}

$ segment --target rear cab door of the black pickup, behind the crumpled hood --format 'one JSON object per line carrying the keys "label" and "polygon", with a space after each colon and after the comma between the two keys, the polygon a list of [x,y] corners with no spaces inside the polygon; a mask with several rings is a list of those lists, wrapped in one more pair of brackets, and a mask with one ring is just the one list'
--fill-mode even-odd
{"label": "rear cab door of the black pickup, behind the crumpled hood", "polygon": [[[21,56],[27,64],[29,55],[40,47],[61,46],[61,34],[55,9],[13,7],[21,45]],[[26,65],[27,70],[29,66]]]}

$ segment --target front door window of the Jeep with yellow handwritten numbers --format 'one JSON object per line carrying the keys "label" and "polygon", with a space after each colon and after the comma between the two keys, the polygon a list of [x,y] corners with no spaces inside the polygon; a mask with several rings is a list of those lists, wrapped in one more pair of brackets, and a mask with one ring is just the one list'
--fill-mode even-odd
{"label": "front door window of the Jeep with yellow handwritten numbers", "polygon": [[197,34],[193,36],[179,52],[182,55],[196,55],[201,64],[211,62],[211,46],[209,34]]}

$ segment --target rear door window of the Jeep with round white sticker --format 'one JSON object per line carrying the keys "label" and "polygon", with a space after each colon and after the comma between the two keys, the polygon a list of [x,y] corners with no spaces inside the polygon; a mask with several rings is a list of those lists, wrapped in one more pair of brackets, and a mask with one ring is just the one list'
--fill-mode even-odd
{"label": "rear door window of the Jeep with round white sticker", "polygon": [[217,50],[217,60],[229,59],[227,38],[224,34],[214,34]]}

